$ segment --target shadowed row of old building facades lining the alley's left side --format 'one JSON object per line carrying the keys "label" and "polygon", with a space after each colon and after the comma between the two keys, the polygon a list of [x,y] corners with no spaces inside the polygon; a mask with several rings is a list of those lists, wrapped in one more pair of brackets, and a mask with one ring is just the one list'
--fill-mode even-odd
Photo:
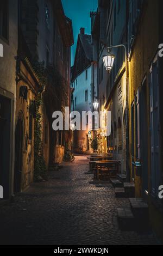
{"label": "shadowed row of old building facades lining the alley's left side", "polygon": [[52,113],[70,105],[73,32],[61,1],[20,0],[14,8],[2,1],[0,7],[0,185],[8,199],[64,156],[68,136],[52,130]]}

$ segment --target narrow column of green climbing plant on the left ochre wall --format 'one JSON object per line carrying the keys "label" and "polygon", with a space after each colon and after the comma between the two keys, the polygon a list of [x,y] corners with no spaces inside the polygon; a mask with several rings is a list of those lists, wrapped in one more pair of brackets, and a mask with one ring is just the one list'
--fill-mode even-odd
{"label": "narrow column of green climbing plant on the left ochre wall", "polygon": [[42,130],[41,122],[42,115],[40,113],[40,106],[42,105],[41,94],[37,94],[36,99],[36,118],[34,129],[34,180],[38,181],[41,178],[47,178],[46,164],[43,156],[43,144],[42,144]]}

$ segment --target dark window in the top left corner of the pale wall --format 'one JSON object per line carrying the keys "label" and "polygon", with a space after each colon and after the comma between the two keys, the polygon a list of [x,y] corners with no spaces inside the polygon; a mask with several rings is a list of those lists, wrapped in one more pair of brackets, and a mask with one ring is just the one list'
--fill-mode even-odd
{"label": "dark window in the top left corner of the pale wall", "polygon": [[8,0],[1,0],[0,1],[0,35],[2,38],[8,40]]}

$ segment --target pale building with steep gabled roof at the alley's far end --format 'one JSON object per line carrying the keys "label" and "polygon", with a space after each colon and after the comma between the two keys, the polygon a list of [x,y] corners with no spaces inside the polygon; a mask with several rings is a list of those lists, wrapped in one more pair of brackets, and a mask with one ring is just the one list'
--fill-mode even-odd
{"label": "pale building with steep gabled roof at the alley's far end", "polygon": [[[97,65],[93,62],[91,35],[85,34],[84,28],[80,28],[71,81],[74,90],[73,110],[78,111],[81,118],[83,111],[93,110],[92,104],[97,95],[97,82],[93,79],[96,69]],[[88,124],[88,121],[87,115],[86,129],[74,131],[73,149],[80,153],[89,153],[90,150],[89,132],[92,131],[93,124]]]}

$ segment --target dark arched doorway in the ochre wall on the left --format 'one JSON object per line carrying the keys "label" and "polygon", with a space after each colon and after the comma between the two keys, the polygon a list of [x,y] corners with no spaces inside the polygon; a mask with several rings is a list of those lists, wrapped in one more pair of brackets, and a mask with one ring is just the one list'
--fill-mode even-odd
{"label": "dark arched doorway in the ochre wall on the left", "polygon": [[15,170],[14,170],[14,192],[21,190],[22,178],[22,150],[23,150],[23,125],[21,118],[18,119],[15,130]]}

